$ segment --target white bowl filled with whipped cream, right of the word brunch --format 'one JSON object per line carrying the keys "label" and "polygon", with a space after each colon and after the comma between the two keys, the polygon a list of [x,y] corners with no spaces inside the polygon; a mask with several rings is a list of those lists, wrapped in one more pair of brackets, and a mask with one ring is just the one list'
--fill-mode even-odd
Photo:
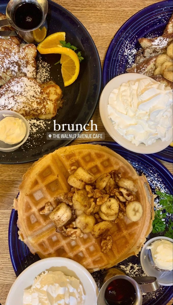
{"label": "white bowl filled with whipped cream, right of the word brunch", "polygon": [[114,141],[145,154],[159,152],[172,142],[172,108],[171,88],[138,73],[114,77],[99,102],[101,120]]}

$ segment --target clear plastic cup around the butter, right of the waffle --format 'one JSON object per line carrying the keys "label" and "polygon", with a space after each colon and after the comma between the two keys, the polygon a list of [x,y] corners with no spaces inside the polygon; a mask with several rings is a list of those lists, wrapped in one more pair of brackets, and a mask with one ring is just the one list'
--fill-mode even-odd
{"label": "clear plastic cup around the butter, right of the waffle", "polygon": [[157,236],[154,237],[148,242],[145,243],[145,245],[142,248],[140,260],[141,260],[141,266],[143,271],[147,276],[155,276],[159,282],[160,285],[163,286],[171,286],[173,285],[173,270],[163,270],[159,269],[153,262],[153,259],[151,258],[151,251],[150,249],[147,249],[151,246],[153,242],[156,240],[168,240],[170,242],[173,242],[173,239],[165,236]]}

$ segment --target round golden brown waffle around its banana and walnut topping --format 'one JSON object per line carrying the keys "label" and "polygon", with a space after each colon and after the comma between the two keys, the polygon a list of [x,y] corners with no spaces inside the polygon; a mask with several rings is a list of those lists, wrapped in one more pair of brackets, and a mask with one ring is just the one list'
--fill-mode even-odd
{"label": "round golden brown waffle around its banana and walnut topping", "polygon": [[[49,216],[39,213],[46,202],[56,207],[56,196],[70,190],[67,178],[72,166],[83,167],[96,178],[120,169],[123,178],[130,178],[138,185],[137,196],[143,206],[143,215],[137,222],[124,217],[114,224],[110,230],[113,246],[108,253],[101,252],[101,238],[95,239],[89,233],[71,240],[56,233]],[[14,208],[18,210],[20,238],[32,253],[38,253],[41,258],[68,257],[89,271],[96,271],[139,253],[152,228],[153,195],[146,177],[139,177],[120,155],[100,145],[80,144],[59,148],[35,162],[23,177]]]}

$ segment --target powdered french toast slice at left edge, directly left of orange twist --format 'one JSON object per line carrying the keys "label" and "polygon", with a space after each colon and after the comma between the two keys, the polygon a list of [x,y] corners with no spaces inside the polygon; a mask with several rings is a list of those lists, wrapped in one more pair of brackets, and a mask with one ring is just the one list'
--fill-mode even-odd
{"label": "powdered french toast slice at left edge, directly left of orange twist", "polygon": [[37,48],[33,44],[20,44],[0,38],[0,86],[12,77],[36,78]]}

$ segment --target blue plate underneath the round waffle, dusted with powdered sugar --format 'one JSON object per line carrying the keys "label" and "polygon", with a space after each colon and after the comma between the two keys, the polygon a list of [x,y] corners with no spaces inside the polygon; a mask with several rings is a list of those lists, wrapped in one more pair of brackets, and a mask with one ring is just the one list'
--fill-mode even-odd
{"label": "blue plate underneath the round waffle, dusted with powdered sugar", "polygon": [[[128,151],[115,142],[90,142],[91,144],[105,145],[108,148],[114,150],[121,156],[123,156],[128,162],[132,164],[135,170],[140,174],[144,173],[148,179],[152,191],[156,188],[163,192],[172,192],[173,177],[171,173],[156,159],[149,155],[142,155]],[[150,238],[157,236],[156,234],[150,234]],[[161,236],[161,235],[160,235]],[[16,275],[18,276],[25,268],[39,260],[38,255],[33,255],[29,251],[28,247],[18,239],[17,228],[17,212],[12,210],[9,221],[9,253],[12,261],[12,265]],[[139,266],[137,273],[134,271],[134,275],[142,275],[142,268],[140,267],[140,255],[139,257],[129,257],[124,260],[118,266],[128,266],[132,263],[135,266]],[[133,269],[133,266],[131,267]],[[103,271],[96,271],[92,275],[95,278],[98,286],[102,278]],[[160,286],[157,292],[147,293],[143,296],[143,304],[145,305],[165,305],[172,297],[172,287]]]}

